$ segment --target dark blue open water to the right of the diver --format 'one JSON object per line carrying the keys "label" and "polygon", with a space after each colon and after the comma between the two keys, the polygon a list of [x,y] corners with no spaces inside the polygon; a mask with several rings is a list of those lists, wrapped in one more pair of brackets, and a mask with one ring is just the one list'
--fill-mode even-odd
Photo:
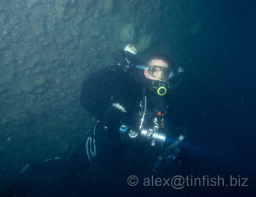
{"label": "dark blue open water to the right of the diver", "polygon": [[254,15],[253,2],[207,1],[197,13],[204,23],[202,31],[181,38],[184,53],[193,57],[179,103],[190,130],[192,175],[240,175],[249,185],[204,187],[198,189],[200,195],[255,191]]}

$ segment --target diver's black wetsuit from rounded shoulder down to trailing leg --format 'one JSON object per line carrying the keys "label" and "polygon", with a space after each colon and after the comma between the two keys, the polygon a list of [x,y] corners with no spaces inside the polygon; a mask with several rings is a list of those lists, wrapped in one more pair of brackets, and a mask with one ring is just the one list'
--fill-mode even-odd
{"label": "diver's black wetsuit from rounded shoulder down to trailing leg", "polygon": [[[70,159],[52,158],[30,164],[7,193],[12,191],[14,195],[26,196],[34,175],[47,172],[65,173],[71,176],[71,179],[68,178],[68,185],[76,187],[81,192],[81,196],[85,194],[74,182],[78,181],[79,174],[79,183],[82,184],[80,174],[92,168],[101,168],[101,174],[98,176],[108,172],[108,175],[111,174],[113,177],[112,180],[115,180],[116,175],[118,184],[126,186],[126,178],[129,175],[142,177],[151,175],[154,164],[161,154],[161,144],[151,146],[150,141],[146,139],[143,140],[140,137],[135,140],[129,139],[127,135],[123,137],[119,132],[123,122],[132,129],[139,128],[142,118],[139,112],[143,111],[140,103],[145,95],[148,96],[149,109],[161,108],[162,112],[167,109],[169,98],[158,97],[149,89],[143,89],[143,85],[132,80],[120,65],[107,66],[91,73],[84,82],[80,102],[95,120],[99,121],[95,128],[82,141]],[[83,180],[86,182],[87,179]],[[119,185],[119,187],[122,186]]]}

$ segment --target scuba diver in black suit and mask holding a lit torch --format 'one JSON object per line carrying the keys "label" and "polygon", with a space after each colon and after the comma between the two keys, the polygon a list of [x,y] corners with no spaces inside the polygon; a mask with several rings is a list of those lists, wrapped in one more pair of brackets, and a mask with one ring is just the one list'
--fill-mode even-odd
{"label": "scuba diver in black suit and mask holding a lit torch", "polygon": [[46,172],[76,177],[97,166],[127,179],[132,174],[167,176],[185,168],[187,154],[180,145],[186,129],[171,128],[167,121],[184,69],[175,71],[174,62],[160,53],[144,66],[136,53],[133,45],[117,49],[112,54],[116,63],[84,81],[80,103],[96,125],[73,156],[27,164],[5,195],[26,196],[34,175]]}

